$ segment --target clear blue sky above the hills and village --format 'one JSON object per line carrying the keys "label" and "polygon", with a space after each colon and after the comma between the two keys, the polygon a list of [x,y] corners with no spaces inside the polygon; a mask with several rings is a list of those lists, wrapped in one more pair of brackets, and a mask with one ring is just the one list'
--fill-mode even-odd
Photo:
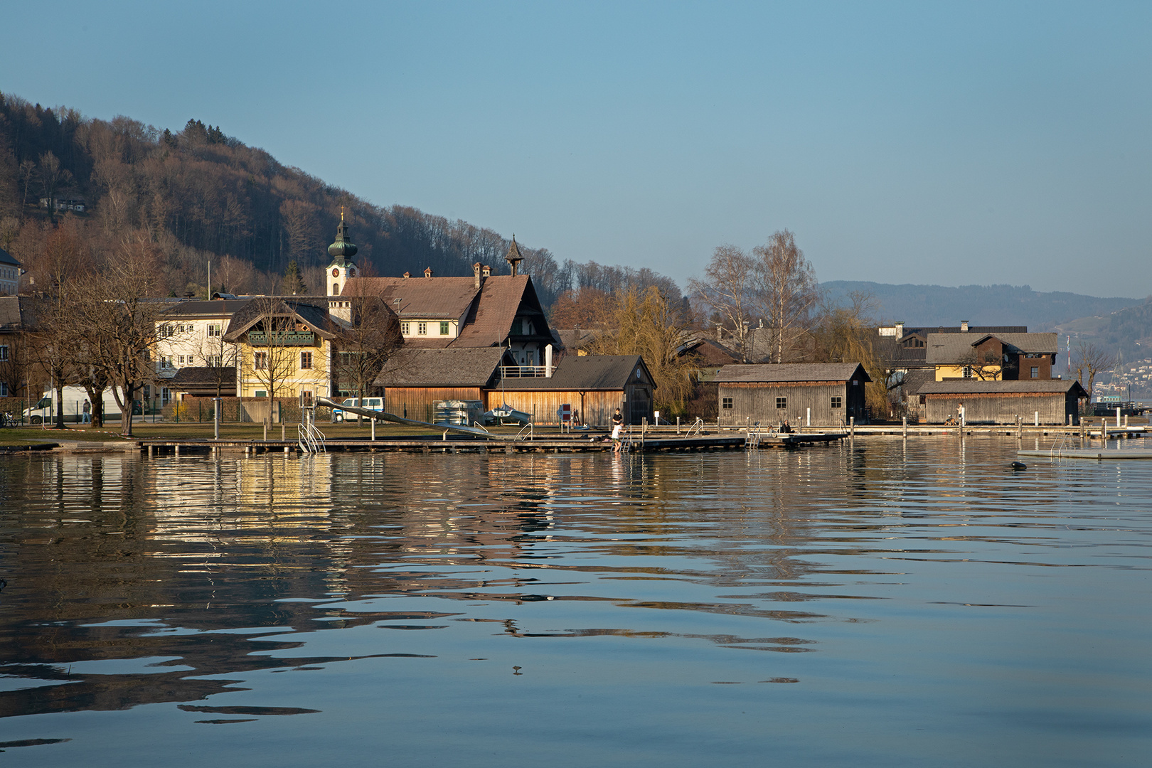
{"label": "clear blue sky above the hills and village", "polygon": [[0,90],[683,282],[1152,294],[1152,3],[20,3]]}

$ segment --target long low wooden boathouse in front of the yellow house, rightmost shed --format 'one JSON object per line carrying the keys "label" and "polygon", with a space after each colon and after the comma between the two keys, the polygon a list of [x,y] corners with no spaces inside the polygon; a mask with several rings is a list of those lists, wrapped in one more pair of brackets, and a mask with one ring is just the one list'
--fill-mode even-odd
{"label": "long low wooden boathouse in front of the yellow house, rightmost shed", "polygon": [[1087,393],[1076,380],[1049,379],[1020,381],[979,381],[962,379],[930,381],[919,389],[929,424],[943,424],[956,417],[961,403],[968,424],[1079,424],[1079,400]]}

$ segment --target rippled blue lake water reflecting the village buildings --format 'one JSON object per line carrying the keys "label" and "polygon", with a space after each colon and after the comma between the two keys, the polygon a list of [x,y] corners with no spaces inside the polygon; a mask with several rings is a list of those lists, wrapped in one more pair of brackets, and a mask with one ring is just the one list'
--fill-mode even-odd
{"label": "rippled blue lake water reflecting the village buildings", "polygon": [[0,458],[0,763],[1150,765],[1152,462],[1016,448]]}

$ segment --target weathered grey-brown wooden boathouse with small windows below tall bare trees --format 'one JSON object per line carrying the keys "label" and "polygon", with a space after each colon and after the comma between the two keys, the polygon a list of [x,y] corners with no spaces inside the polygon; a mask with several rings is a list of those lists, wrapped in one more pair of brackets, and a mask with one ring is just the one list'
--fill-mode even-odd
{"label": "weathered grey-brown wooden boathouse with small windows below tall bare trees", "polygon": [[859,363],[726,365],[715,378],[720,426],[759,421],[794,426],[840,426],[865,417],[864,385],[871,379]]}

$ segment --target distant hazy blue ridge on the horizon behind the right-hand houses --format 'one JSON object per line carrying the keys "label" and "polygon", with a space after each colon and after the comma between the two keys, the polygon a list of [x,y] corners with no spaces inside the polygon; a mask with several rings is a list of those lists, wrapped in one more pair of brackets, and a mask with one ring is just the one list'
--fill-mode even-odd
{"label": "distant hazy blue ridge on the horizon behind the right-hand houses", "polygon": [[1053,330],[1076,318],[1108,315],[1143,304],[1137,298],[1097,298],[1060,291],[1039,292],[1029,286],[893,286],[835,280],[820,283],[832,298],[854,291],[871,294],[877,315],[909,326],[958,326],[962,320],[982,326],[1028,326],[1031,332]]}

